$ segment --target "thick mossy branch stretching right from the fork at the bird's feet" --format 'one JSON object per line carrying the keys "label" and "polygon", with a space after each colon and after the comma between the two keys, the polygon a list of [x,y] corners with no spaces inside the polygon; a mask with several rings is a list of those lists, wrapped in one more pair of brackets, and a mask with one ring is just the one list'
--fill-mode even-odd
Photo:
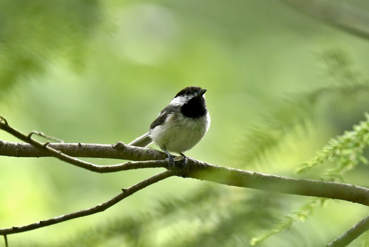
{"label": "thick mossy branch stretching right from the fork at the bird's feet", "polygon": [[192,159],[189,159],[188,166],[190,170],[187,172],[180,171],[183,177],[272,192],[339,199],[369,206],[369,189],[360,186],[249,172]]}

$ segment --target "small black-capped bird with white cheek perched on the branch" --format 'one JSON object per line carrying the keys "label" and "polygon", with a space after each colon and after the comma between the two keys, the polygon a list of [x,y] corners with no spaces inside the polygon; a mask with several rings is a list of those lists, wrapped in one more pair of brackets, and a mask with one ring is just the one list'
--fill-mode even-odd
{"label": "small black-capped bird with white cheek perched on the branch", "polygon": [[183,153],[199,143],[210,127],[206,91],[196,86],[179,91],[151,123],[149,131],[128,145],[147,147],[154,142],[168,156],[169,167],[174,166],[170,152],[181,155],[186,166],[187,156]]}

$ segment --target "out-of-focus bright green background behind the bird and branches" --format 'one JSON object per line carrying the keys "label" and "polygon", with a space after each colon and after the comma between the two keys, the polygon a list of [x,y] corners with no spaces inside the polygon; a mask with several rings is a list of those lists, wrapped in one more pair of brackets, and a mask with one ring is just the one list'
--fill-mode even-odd
{"label": "out-of-focus bright green background behind the bird and branches", "polygon": [[[365,0],[346,2],[369,10]],[[368,77],[368,52],[367,40],[280,1],[4,0],[0,115],[22,132],[38,130],[65,142],[128,143],[147,131],[178,91],[197,85],[208,89],[212,122],[186,155],[297,177],[299,163],[363,119],[368,93],[323,95],[303,125],[293,123],[283,134],[268,128],[275,116],[270,112],[281,119],[286,114],[288,122],[284,99],[337,84],[324,54],[345,54],[349,69]],[[270,135],[281,138],[258,146]],[[5,132],[0,139],[19,141]],[[162,170],[97,174],[54,158],[0,157],[0,228],[95,206]],[[368,187],[366,172],[359,167],[345,182]],[[11,247],[248,246],[304,202],[301,196],[171,177],[106,212],[8,240]],[[325,246],[366,214],[364,206],[331,202],[260,246]]]}

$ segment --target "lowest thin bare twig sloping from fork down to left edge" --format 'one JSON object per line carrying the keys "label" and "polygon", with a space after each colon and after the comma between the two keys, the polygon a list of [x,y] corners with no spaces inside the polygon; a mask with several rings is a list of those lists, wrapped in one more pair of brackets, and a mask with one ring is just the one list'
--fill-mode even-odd
{"label": "lowest thin bare twig sloping from fork down to left edge", "polygon": [[101,203],[95,207],[91,207],[89,209],[80,210],[74,213],[64,214],[52,219],[48,220],[42,220],[37,223],[25,225],[25,226],[14,226],[10,228],[3,228],[0,229],[0,235],[6,236],[7,234],[13,234],[13,233],[20,233],[24,231],[30,231],[34,229],[38,229],[44,226],[50,226],[56,223],[60,223],[63,221],[76,219],[79,217],[103,212],[104,210],[108,209],[109,207],[113,206],[114,204],[120,202],[124,198],[130,196],[131,194],[144,189],[145,187],[152,185],[156,182],[159,182],[160,180],[166,179],[167,177],[173,176],[173,173],[169,170],[166,170],[165,172],[159,173],[155,176],[149,177],[146,180],[143,180],[139,183],[136,183],[135,185],[128,187],[127,189],[122,189],[122,192],[115,196],[113,199],[108,200],[107,202]]}

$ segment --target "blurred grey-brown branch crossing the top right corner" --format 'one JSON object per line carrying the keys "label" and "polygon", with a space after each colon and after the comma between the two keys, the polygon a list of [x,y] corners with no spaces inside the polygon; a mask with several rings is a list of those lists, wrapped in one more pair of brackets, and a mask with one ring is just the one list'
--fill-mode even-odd
{"label": "blurred grey-brown branch crossing the top right corner", "polygon": [[301,12],[320,18],[348,33],[369,40],[369,13],[331,0],[282,0]]}

